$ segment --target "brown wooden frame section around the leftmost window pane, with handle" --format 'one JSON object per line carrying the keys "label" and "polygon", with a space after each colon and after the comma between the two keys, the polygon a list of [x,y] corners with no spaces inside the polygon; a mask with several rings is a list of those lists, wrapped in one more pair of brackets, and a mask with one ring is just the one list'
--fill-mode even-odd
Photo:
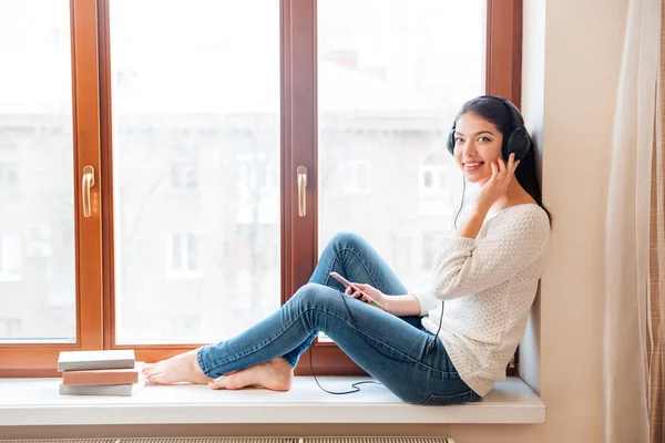
{"label": "brown wooden frame section around the leftmost window pane, with handle", "polygon": [[[96,0],[70,0],[70,44],[73,123],[74,254],[76,340],[42,343],[0,343],[0,378],[58,377],[62,351],[95,350],[103,346],[102,200],[100,182],[100,79],[98,70]],[[94,168],[91,216],[81,204],[84,166]],[[102,175],[103,176],[103,175]],[[20,179],[20,178],[19,178]],[[102,202],[103,203],[103,202]],[[85,259],[81,259],[85,257]]]}

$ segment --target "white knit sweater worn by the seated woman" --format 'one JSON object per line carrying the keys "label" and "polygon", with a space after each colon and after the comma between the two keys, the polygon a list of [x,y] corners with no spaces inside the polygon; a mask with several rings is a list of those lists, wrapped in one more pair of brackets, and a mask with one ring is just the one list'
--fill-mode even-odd
{"label": "white knit sweater worn by the seated woman", "polygon": [[540,206],[500,210],[485,218],[474,239],[443,237],[431,286],[413,292],[426,316],[422,326],[432,333],[444,307],[439,338],[460,378],[481,396],[505,379],[524,334],[549,238],[550,223]]}

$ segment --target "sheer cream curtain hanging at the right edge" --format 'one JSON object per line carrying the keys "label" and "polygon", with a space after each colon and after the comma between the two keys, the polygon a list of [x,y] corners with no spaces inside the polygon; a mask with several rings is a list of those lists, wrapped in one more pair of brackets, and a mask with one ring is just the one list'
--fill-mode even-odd
{"label": "sheer cream curtain hanging at the right edge", "polygon": [[605,442],[664,441],[661,0],[631,0],[605,224]]}

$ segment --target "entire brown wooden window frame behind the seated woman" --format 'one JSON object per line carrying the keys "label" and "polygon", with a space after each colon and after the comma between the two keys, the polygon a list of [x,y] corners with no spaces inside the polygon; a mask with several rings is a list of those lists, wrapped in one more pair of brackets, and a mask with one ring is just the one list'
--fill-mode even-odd
{"label": "entire brown wooden window frame behind the seated woman", "polygon": [[[79,173],[84,165],[92,165],[95,172],[103,171],[95,176],[99,185],[92,189],[93,203],[96,202],[101,210],[85,220],[81,205],[76,205],[75,212],[76,257],[81,257],[81,245],[85,245],[85,257],[92,258],[76,259],[78,342],[0,343],[0,378],[58,377],[58,354],[68,350],[134,349],[137,360],[156,361],[197,346],[115,343],[109,0],[71,0],[70,9],[75,195],[81,192]],[[299,217],[295,179],[297,167],[305,165],[308,182],[316,183],[316,0],[280,0],[282,302],[308,281],[318,257],[317,189],[311,185],[307,187],[306,203],[311,210]],[[485,17],[485,91],[505,96],[520,106],[522,0],[487,0]],[[293,233],[300,233],[297,243]],[[85,278],[80,278],[81,275]],[[309,353],[313,350],[317,375],[365,374],[331,342],[315,342],[300,359],[296,374],[311,373]],[[508,373],[515,374],[516,369],[509,368]]]}

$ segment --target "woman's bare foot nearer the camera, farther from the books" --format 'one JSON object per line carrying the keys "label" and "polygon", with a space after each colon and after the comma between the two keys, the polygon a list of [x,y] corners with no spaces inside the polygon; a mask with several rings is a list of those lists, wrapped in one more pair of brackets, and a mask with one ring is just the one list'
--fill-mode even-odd
{"label": "woman's bare foot nearer the camera, farther from the books", "polygon": [[283,358],[256,364],[211,381],[211,389],[243,389],[263,387],[272,391],[288,391],[294,380],[294,370]]}

